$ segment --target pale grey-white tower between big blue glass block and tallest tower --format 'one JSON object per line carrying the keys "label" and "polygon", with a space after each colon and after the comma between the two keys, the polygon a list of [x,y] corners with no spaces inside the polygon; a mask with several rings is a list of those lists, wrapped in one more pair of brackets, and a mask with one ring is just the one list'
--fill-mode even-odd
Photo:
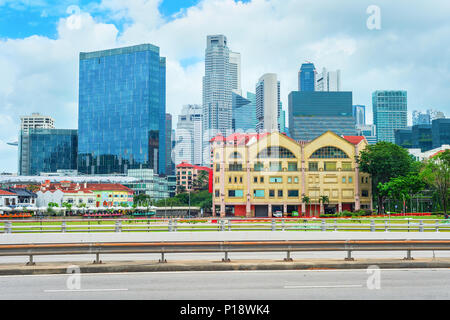
{"label": "pale grey-white tower between big blue glass block and tallest tower", "polygon": [[202,113],[201,105],[183,106],[177,122],[175,165],[183,161],[195,165],[202,164]]}

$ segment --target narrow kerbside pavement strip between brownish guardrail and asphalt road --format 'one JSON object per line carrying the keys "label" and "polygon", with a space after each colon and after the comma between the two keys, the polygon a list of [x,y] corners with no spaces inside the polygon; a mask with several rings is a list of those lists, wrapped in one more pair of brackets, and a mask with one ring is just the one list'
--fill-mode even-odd
{"label": "narrow kerbside pavement strip between brownish guardrail and asphalt road", "polygon": [[226,271],[226,270],[314,270],[314,269],[381,269],[398,268],[450,268],[450,258],[436,259],[358,259],[355,261],[308,259],[285,262],[282,260],[235,260],[222,261],[108,261],[101,264],[86,262],[1,264],[0,275],[66,274],[69,266],[78,266],[81,273],[113,272],[173,272],[173,271]]}

